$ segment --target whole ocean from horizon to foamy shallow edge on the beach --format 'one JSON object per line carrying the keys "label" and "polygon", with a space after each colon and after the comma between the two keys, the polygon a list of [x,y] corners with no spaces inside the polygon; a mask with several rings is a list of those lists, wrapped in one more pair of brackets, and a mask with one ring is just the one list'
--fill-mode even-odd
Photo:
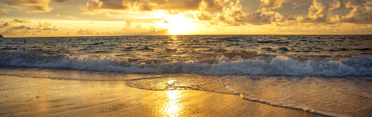
{"label": "whole ocean from horizon to foamy shallow edge on the beach", "polygon": [[322,116],[367,117],[372,35],[1,38],[0,75],[118,80],[139,89],[201,90]]}

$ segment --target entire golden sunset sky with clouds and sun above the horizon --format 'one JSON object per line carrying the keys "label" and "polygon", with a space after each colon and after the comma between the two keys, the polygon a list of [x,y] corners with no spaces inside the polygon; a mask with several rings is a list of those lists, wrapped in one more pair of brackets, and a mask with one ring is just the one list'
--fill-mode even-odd
{"label": "entire golden sunset sky with clouds and sun above the horizon", "polygon": [[0,35],[372,34],[372,0],[0,0]]}

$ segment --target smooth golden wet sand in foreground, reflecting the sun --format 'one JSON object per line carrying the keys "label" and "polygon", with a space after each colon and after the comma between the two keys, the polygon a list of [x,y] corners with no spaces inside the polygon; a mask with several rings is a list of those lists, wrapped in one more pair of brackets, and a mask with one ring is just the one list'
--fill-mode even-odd
{"label": "smooth golden wet sand in foreground, reflecting the sun", "polygon": [[315,117],[311,113],[198,90],[152,91],[125,81],[0,75],[1,117]]}

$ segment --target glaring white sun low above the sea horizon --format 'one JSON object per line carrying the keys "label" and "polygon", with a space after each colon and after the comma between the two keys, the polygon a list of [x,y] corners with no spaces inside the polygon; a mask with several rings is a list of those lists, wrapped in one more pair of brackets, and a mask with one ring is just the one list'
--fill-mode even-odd
{"label": "glaring white sun low above the sea horizon", "polygon": [[188,18],[183,14],[158,14],[163,20],[158,21],[157,24],[163,28],[168,29],[169,35],[191,35],[198,33],[198,25],[192,18]]}

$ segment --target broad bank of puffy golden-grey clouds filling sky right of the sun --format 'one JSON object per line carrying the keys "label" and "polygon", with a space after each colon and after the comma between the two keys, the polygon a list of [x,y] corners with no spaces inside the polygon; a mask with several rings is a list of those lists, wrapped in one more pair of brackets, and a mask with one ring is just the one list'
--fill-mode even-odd
{"label": "broad bank of puffy golden-grey clouds filling sky right of the sun", "polygon": [[[306,0],[261,0],[261,9],[255,13],[248,14],[243,12],[239,1],[234,5],[225,7],[223,16],[219,16],[219,20],[230,25],[289,25],[291,23],[306,22],[306,23],[372,23],[372,0],[313,0],[308,8],[307,17],[301,16],[282,17],[280,13],[273,12],[271,9],[282,7],[282,3],[287,1],[306,1]],[[332,11],[339,8],[344,3],[345,7],[350,10],[346,16],[334,14]],[[265,9],[266,8],[266,9]],[[270,8],[270,9],[269,9]],[[294,11],[291,14],[301,14],[299,11]]]}

